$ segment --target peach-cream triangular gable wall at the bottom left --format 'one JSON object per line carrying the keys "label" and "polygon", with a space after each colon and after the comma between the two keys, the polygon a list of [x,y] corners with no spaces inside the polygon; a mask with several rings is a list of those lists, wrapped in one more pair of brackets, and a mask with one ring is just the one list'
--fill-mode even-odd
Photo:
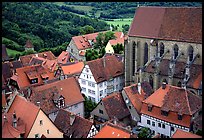
{"label": "peach-cream triangular gable wall at the bottom left", "polygon": [[63,133],[58,130],[42,110],[39,111],[28,138],[36,138],[37,135],[39,138],[42,135],[46,138],[63,138]]}

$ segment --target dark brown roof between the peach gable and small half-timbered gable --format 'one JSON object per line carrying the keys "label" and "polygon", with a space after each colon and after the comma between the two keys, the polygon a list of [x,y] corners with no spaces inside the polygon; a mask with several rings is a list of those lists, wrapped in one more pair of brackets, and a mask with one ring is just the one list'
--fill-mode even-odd
{"label": "dark brown roof between the peach gable and small half-timbered gable", "polygon": [[61,132],[63,132],[67,136],[70,136],[72,134],[72,138],[86,138],[93,124],[87,119],[84,119],[75,114],[73,115],[75,119],[73,124],[70,125],[71,112],[60,109],[56,116],[54,124]]}

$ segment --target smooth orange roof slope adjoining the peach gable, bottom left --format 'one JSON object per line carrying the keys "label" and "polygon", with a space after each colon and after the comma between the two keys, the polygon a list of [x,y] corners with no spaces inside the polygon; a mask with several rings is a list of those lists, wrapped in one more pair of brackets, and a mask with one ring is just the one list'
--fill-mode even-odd
{"label": "smooth orange roof slope adjoining the peach gable, bottom left", "polygon": [[[35,122],[40,108],[27,101],[24,97],[16,95],[13,103],[11,104],[11,107],[7,112],[8,122],[12,122],[12,115],[14,111],[17,118],[20,118],[26,125],[24,135],[24,137],[26,138]],[[7,135],[7,133],[4,135]]]}

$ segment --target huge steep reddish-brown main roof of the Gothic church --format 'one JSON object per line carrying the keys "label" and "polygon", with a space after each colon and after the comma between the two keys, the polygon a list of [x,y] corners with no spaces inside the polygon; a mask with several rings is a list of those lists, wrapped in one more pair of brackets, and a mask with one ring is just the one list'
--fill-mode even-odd
{"label": "huge steep reddish-brown main roof of the Gothic church", "polygon": [[202,8],[139,7],[128,35],[202,43]]}

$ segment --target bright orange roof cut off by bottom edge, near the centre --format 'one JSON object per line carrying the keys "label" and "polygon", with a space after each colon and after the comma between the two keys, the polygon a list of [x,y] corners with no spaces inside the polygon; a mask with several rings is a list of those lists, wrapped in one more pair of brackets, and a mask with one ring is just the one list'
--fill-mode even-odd
{"label": "bright orange roof cut off by bottom edge, near the centre", "polygon": [[117,126],[107,124],[94,138],[130,138],[130,132]]}

